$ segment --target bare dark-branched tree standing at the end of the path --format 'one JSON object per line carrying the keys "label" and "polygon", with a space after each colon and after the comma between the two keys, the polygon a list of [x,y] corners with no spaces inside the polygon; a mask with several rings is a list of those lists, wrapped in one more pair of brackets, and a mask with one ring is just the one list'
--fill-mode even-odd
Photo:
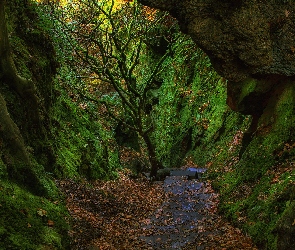
{"label": "bare dark-branched tree standing at the end of the path", "polygon": [[[177,39],[171,33],[175,23],[169,28],[166,26],[166,36],[153,37],[155,27],[163,26],[168,15],[155,13],[136,1],[116,6],[114,0],[84,0],[68,5],[64,13],[63,28],[74,48],[77,67],[83,69],[82,77],[91,75],[100,85],[113,86],[114,92],[100,102],[113,119],[136,131],[144,140],[151,164],[150,175],[156,176],[162,165],[150,136],[154,124],[147,107],[148,92],[155,87]],[[147,44],[155,39],[164,41],[165,46],[158,59],[148,63],[144,59]]]}

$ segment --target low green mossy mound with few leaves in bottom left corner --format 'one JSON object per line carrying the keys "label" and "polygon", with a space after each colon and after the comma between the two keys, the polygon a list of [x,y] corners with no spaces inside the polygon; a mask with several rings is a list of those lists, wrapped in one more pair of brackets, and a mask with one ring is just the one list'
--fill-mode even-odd
{"label": "low green mossy mound with few leaves in bottom left corner", "polygon": [[[67,210],[60,198],[34,196],[16,184],[0,185],[1,249],[66,249],[69,226]],[[54,225],[48,224],[52,221]]]}

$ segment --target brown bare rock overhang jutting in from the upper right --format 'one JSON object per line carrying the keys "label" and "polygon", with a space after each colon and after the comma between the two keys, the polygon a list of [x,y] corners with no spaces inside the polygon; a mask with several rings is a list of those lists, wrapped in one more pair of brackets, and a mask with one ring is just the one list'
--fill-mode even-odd
{"label": "brown bare rock overhang jutting in from the upper right", "polygon": [[[295,74],[295,5],[288,0],[141,0],[169,11],[229,80],[228,105],[260,114],[274,86]],[[245,90],[249,81],[251,95]],[[256,103],[254,105],[253,103]],[[251,104],[251,105],[249,105]]]}

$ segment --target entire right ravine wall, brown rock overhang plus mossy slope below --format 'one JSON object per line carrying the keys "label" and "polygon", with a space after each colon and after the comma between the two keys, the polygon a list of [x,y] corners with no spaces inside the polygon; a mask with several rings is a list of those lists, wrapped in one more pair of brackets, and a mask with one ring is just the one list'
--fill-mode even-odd
{"label": "entire right ravine wall, brown rock overhang plus mossy slope below", "polygon": [[[216,71],[228,80],[228,106],[251,116],[236,155],[223,144],[222,153],[213,159],[212,169],[216,172],[212,177],[220,189],[221,210],[249,232],[261,248],[295,248],[294,3],[140,2],[169,11],[178,19],[182,31],[192,37]],[[217,141],[227,126],[234,125],[230,116],[225,116]],[[206,149],[206,145],[199,145],[202,147]]]}

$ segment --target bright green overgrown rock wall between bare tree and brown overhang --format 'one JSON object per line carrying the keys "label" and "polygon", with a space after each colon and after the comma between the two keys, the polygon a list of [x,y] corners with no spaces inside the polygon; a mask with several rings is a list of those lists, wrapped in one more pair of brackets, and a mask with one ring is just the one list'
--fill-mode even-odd
{"label": "bright green overgrown rock wall between bare tree and brown overhang", "polygon": [[237,154],[227,150],[228,144],[238,130],[246,130],[250,119],[229,110],[226,81],[189,38],[183,39],[186,42],[176,45],[173,61],[167,61],[172,66],[161,75],[164,83],[157,91],[153,136],[165,166],[179,166],[185,156],[204,166]]}

